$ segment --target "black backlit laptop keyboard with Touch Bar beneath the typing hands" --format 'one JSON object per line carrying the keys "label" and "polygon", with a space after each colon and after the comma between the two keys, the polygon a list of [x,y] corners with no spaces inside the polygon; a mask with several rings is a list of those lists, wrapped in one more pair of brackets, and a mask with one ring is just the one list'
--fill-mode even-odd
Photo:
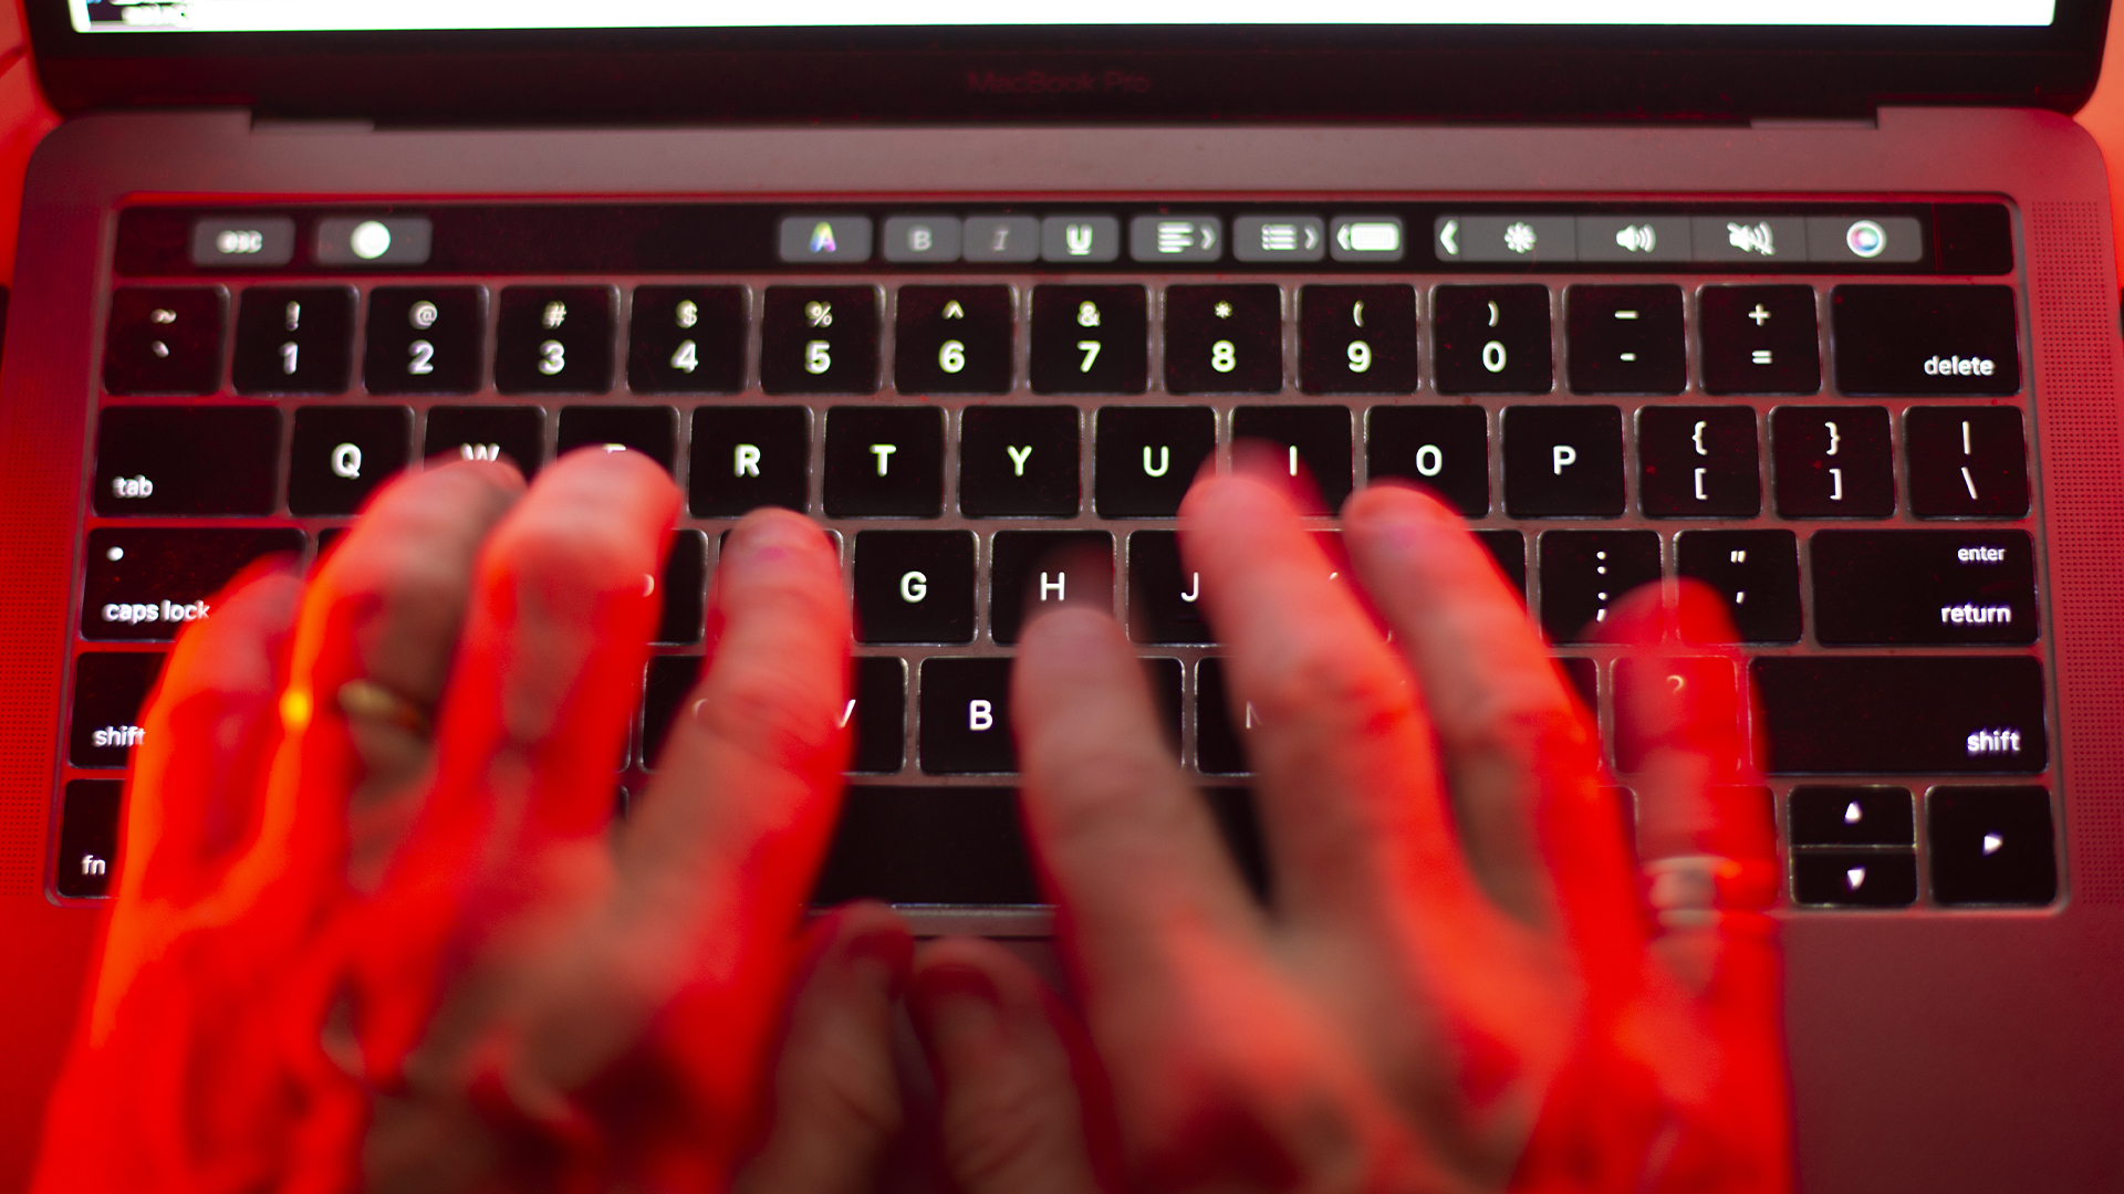
{"label": "black backlit laptop keyboard with Touch Bar beneath the typing hands", "polygon": [[597,444],[686,491],[622,809],[699,673],[720,533],[788,506],[837,535],[858,627],[820,901],[1039,903],[1009,656],[1064,595],[1124,618],[1266,888],[1251,712],[1172,529],[1198,470],[1260,442],[1330,506],[1391,476],[1459,508],[1625,792],[1635,663],[1595,631],[1638,584],[1723,593],[1795,909],[2058,897],[2003,206],[1289,206],[121,212],[53,894],[106,894],[138,707],[244,563],[325,550],[416,459],[531,474]]}

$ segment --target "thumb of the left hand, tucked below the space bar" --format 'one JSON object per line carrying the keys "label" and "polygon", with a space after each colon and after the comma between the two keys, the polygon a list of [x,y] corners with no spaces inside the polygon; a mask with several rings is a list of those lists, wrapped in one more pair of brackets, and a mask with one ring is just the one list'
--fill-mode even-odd
{"label": "thumb of the left hand, tucked below the space bar", "polygon": [[881,905],[852,905],[813,926],[775,1060],[767,1141],[737,1194],[869,1194],[901,1130],[892,1007],[913,939]]}

